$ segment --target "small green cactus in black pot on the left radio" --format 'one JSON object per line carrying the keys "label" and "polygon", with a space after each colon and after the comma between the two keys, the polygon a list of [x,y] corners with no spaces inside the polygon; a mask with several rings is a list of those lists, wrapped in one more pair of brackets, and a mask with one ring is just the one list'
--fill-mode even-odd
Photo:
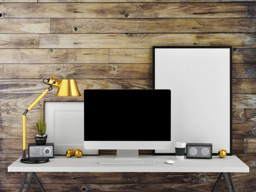
{"label": "small green cactus in black pot on the left radio", "polygon": [[47,140],[47,135],[45,134],[46,133],[46,123],[44,124],[44,122],[41,120],[41,113],[39,113],[39,122],[36,122],[35,125],[36,125],[36,130],[38,133],[35,135],[36,144],[38,144],[38,145],[46,144],[46,140]]}

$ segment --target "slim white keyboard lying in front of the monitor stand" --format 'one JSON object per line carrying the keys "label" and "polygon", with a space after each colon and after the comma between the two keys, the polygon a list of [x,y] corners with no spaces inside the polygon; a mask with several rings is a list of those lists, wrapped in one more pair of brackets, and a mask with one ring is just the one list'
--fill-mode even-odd
{"label": "slim white keyboard lying in front of the monitor stand", "polygon": [[155,165],[152,160],[101,160],[99,165]]}

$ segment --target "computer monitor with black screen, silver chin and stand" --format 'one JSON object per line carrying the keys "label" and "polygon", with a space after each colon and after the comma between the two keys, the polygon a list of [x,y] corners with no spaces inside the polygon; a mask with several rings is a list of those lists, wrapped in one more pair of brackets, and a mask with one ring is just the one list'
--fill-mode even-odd
{"label": "computer monitor with black screen, silver chin and stand", "polygon": [[138,150],[169,150],[170,142],[170,90],[84,90],[85,149],[138,159]]}

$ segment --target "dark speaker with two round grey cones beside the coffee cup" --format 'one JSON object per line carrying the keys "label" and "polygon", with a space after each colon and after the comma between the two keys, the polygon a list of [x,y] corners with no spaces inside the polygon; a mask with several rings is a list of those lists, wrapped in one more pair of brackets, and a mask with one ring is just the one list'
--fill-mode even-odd
{"label": "dark speaker with two round grey cones beside the coffee cup", "polygon": [[212,143],[187,143],[186,158],[188,159],[211,159]]}

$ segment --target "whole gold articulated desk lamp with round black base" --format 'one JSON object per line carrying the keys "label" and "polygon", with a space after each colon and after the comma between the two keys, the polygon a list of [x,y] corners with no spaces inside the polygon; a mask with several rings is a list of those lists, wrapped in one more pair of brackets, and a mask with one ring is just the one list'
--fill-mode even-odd
{"label": "whole gold articulated desk lamp with round black base", "polygon": [[[45,80],[48,82],[46,83]],[[27,158],[26,157],[26,115],[28,111],[30,111],[38,101],[42,99],[49,91],[52,90],[52,87],[57,87],[58,91],[56,96],[60,97],[75,97],[75,96],[81,96],[80,92],[78,90],[76,80],[75,79],[62,79],[58,80],[55,78],[49,78],[49,79],[43,79],[42,82],[45,84],[50,84],[50,87],[47,88],[44,93],[42,93],[30,106],[26,111],[23,113],[23,156],[22,159],[20,159],[20,162],[22,163],[46,163],[49,161],[47,157],[32,157],[32,158]]]}

